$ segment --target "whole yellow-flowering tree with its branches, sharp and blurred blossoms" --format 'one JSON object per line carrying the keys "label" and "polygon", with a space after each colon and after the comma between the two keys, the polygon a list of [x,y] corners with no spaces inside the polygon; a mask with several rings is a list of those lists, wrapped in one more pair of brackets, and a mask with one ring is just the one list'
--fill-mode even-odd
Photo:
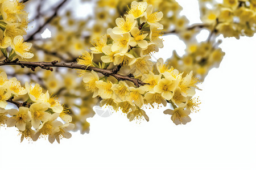
{"label": "whole yellow-flowering tree with its branches, sharp and blurred blossoms", "polygon": [[[0,124],[15,126],[21,141],[48,136],[53,143],[70,138],[70,130],[89,133],[94,105],[149,121],[144,108],[168,104],[172,109],[163,113],[187,124],[199,111],[196,84],[225,55],[219,35],[253,36],[256,27],[254,0],[200,0],[202,22],[192,25],[175,0],[100,0],[86,19],[66,9],[68,0],[43,10],[44,1],[0,0]],[[25,6],[36,6],[30,22]],[[46,28],[52,36],[42,39]],[[198,42],[203,29],[208,39]],[[170,34],[185,42],[186,53],[154,62],[164,48],[161,36]]]}

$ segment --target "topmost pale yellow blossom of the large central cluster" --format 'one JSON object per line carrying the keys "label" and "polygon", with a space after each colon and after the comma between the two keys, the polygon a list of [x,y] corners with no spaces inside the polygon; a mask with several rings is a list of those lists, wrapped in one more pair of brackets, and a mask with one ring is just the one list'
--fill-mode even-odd
{"label": "topmost pale yellow blossom of the large central cluster", "polygon": [[132,14],[135,19],[144,16],[144,12],[147,9],[147,2],[131,2],[131,8],[128,11],[128,14]]}

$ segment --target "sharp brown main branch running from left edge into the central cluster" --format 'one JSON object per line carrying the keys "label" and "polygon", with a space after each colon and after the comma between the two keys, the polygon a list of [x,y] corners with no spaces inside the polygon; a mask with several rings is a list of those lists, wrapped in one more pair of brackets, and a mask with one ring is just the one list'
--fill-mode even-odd
{"label": "sharp brown main branch running from left edge into the central cluster", "polygon": [[79,65],[77,63],[58,63],[58,61],[52,61],[52,62],[29,62],[29,61],[18,61],[18,59],[15,59],[14,61],[10,62],[4,62],[0,61],[0,66],[6,66],[6,65],[19,65],[21,67],[28,67],[32,71],[35,71],[36,67],[41,67],[42,69],[46,70],[53,70],[52,67],[67,67],[70,69],[78,69],[78,70],[93,70],[98,73],[102,73],[103,75],[111,75],[117,80],[128,80],[130,82],[133,82],[135,86],[144,85],[146,83],[143,83],[139,79],[131,78],[130,76],[127,75],[121,75],[121,74],[114,74],[112,70],[109,69],[100,69],[97,67],[86,67],[84,65]]}

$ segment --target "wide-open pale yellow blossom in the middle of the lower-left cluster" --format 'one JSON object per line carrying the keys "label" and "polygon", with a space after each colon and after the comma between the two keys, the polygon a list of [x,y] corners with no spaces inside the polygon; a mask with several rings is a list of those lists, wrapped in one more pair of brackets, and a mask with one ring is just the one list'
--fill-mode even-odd
{"label": "wide-open pale yellow blossom in the middle of the lower-left cluster", "polygon": [[49,103],[33,103],[30,106],[31,123],[33,128],[38,129],[40,122],[47,121],[51,114],[46,112],[49,108]]}

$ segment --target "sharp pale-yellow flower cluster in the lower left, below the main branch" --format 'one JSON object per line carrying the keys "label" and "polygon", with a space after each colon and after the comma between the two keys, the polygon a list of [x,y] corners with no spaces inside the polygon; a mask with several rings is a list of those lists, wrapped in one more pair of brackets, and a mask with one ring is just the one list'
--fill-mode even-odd
{"label": "sharp pale-yellow flower cluster in the lower left, below the main branch", "polygon": [[[28,99],[24,103],[13,101],[14,96],[26,95]],[[6,110],[7,102],[14,103],[18,109]],[[68,130],[74,128],[70,124],[72,117],[69,111],[59,103],[55,96],[50,96],[48,91],[42,92],[39,84],[28,84],[22,87],[16,78],[8,79],[5,72],[0,73],[0,124],[8,127],[16,126],[21,136],[36,141],[40,136],[48,136],[49,142],[61,138],[70,138]],[[63,122],[58,121],[60,117]]]}

